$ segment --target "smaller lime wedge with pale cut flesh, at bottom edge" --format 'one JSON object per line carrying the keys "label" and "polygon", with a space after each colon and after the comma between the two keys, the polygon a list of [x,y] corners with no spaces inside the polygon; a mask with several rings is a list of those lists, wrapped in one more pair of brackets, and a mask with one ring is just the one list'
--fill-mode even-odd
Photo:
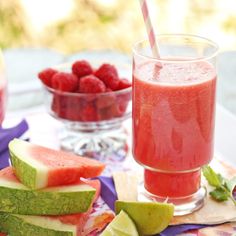
{"label": "smaller lime wedge with pale cut flesh, at bottom edge", "polygon": [[120,211],[100,236],[138,236],[138,232],[129,216]]}

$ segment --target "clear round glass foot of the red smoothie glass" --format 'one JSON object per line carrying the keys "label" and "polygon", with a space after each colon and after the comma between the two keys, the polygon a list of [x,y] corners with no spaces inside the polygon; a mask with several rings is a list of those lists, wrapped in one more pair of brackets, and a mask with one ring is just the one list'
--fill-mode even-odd
{"label": "clear round glass foot of the red smoothie glass", "polygon": [[186,197],[178,198],[169,198],[169,197],[160,197],[152,193],[149,193],[145,188],[143,183],[138,187],[138,201],[144,202],[166,202],[173,203],[175,205],[174,216],[181,216],[190,214],[204,205],[206,199],[206,188],[200,187],[200,189],[194,194]]}

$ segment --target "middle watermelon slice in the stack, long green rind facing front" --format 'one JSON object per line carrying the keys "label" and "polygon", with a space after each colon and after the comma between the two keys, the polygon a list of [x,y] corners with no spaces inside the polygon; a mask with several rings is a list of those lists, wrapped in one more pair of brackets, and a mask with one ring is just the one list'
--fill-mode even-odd
{"label": "middle watermelon slice in the stack, long green rind facing front", "polygon": [[0,171],[0,211],[26,215],[86,212],[96,192],[90,185],[80,182],[32,190],[19,182],[12,167],[7,167]]}

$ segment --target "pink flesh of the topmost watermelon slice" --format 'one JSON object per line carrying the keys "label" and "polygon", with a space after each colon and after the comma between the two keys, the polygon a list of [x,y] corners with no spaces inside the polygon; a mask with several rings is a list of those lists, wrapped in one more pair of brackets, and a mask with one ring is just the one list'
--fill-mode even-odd
{"label": "pink flesh of the topmost watermelon slice", "polygon": [[32,158],[50,167],[48,186],[71,184],[80,177],[93,178],[99,176],[105,167],[96,160],[34,144],[31,144],[28,152]]}

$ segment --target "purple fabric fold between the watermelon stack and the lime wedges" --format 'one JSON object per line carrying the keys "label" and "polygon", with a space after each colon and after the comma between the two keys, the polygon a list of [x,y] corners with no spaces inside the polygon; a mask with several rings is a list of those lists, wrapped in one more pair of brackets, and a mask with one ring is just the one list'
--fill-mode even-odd
{"label": "purple fabric fold between the watermelon stack and the lime wedges", "polygon": [[101,182],[101,197],[105,201],[105,203],[114,211],[117,194],[114,187],[113,178],[99,176],[98,179]]}

